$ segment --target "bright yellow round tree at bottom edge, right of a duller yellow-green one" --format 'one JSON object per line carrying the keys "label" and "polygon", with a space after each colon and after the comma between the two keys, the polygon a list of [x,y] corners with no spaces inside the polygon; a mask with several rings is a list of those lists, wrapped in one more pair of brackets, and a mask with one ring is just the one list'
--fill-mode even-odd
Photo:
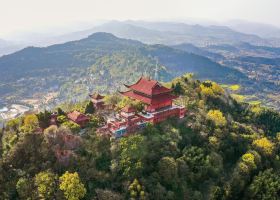
{"label": "bright yellow round tree at bottom edge, right of a duller yellow-green one", "polygon": [[67,200],[79,200],[86,194],[86,188],[81,183],[80,177],[77,172],[69,173],[66,171],[59,177],[59,189],[63,191]]}

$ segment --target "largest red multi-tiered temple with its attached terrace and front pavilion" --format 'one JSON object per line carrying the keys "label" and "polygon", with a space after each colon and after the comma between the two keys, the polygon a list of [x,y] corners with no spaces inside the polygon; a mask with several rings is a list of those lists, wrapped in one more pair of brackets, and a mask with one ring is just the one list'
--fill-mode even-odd
{"label": "largest red multi-tiered temple with its attached terrace and front pavilion", "polygon": [[135,84],[125,86],[128,91],[120,93],[144,103],[144,110],[136,113],[132,107],[126,106],[114,118],[108,119],[107,125],[100,131],[107,130],[115,137],[120,137],[145,127],[147,123],[156,124],[170,117],[185,116],[185,108],[173,104],[177,96],[158,81],[141,77]]}

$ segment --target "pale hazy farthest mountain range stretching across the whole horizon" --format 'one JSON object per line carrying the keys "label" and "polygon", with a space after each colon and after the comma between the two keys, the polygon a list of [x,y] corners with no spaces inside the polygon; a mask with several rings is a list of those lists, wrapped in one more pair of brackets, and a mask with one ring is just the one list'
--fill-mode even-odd
{"label": "pale hazy farthest mountain range stretching across the whole horizon", "polygon": [[[258,46],[280,46],[280,31],[269,25],[232,21],[228,26],[190,25],[177,22],[110,21],[93,28],[60,36],[34,33],[16,47],[1,45],[0,56],[26,46],[49,46],[80,40],[96,32],[108,32],[117,37],[139,40],[147,44],[178,45],[191,43],[197,46],[250,43]],[[30,37],[32,38],[31,41]],[[2,47],[2,48],[1,48]]]}

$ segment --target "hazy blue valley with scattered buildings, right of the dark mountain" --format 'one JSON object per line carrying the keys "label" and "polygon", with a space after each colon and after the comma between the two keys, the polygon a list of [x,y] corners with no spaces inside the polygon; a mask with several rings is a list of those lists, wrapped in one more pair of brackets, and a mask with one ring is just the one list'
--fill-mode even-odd
{"label": "hazy blue valley with scattered buildings, right of the dark mountain", "polygon": [[207,47],[180,44],[173,47],[208,57],[240,71],[250,79],[249,82],[243,82],[241,85],[239,94],[242,94],[242,99],[279,110],[279,48],[254,46],[249,43]]}

